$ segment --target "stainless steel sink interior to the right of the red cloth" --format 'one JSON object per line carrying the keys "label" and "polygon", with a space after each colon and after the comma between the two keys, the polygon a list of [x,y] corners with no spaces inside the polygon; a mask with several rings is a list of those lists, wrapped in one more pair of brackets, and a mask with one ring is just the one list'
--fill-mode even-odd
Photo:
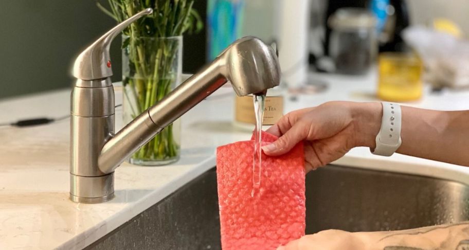
{"label": "stainless steel sink interior to the right of the red cloth", "polygon": [[306,176],[306,233],[398,230],[469,220],[469,187],[438,178],[328,166]]}

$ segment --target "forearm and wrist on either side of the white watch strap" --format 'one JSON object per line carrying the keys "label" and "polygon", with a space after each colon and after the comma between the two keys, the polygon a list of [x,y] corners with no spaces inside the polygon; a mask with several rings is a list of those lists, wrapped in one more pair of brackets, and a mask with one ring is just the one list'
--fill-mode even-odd
{"label": "forearm and wrist on either side of the white watch strap", "polygon": [[[380,131],[380,103],[353,104],[357,146],[374,148]],[[469,111],[434,111],[401,106],[402,145],[398,153],[469,166]]]}

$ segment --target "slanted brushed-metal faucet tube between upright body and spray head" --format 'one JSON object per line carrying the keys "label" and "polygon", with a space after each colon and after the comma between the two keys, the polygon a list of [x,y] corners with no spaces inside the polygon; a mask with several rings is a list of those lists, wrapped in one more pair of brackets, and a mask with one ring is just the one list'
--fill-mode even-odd
{"label": "slanted brushed-metal faucet tube between upright body and spray head", "polygon": [[223,68],[222,60],[215,60],[107,140],[98,159],[100,171],[113,172],[157,133],[225,84]]}

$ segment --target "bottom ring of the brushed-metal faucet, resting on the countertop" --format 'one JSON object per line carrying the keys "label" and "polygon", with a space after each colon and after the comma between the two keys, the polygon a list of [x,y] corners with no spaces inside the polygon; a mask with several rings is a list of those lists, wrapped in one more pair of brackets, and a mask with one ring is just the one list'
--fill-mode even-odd
{"label": "bottom ring of the brushed-metal faucet, resting on the countertop", "polygon": [[80,176],[70,173],[70,200],[100,203],[114,198],[114,172],[101,176]]}

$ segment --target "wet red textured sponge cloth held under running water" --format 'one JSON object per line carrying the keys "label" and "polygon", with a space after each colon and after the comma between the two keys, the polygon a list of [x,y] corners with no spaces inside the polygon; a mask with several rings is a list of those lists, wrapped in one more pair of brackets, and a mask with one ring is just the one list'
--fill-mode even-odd
{"label": "wet red textured sponge cloth held under running water", "polygon": [[[262,133],[263,143],[276,136]],[[262,154],[261,183],[251,197],[254,140],[217,149],[222,248],[276,249],[304,235],[304,152],[300,142],[287,154]]]}

